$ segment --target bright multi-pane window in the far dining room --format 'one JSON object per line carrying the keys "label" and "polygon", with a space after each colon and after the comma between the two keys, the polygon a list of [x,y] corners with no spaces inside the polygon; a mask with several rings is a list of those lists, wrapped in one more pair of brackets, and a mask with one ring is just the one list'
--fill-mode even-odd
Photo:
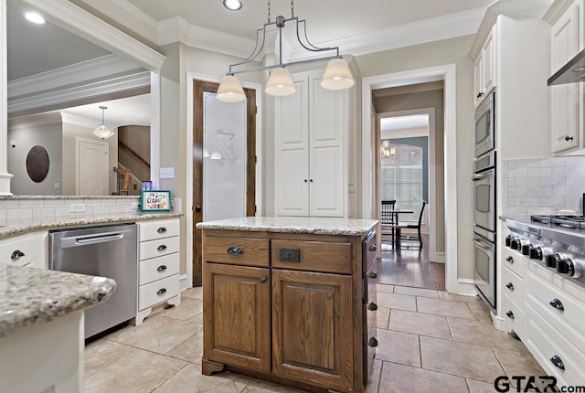
{"label": "bright multi-pane window in the far dining room", "polygon": [[400,220],[417,221],[423,194],[422,148],[383,141],[380,148],[380,197],[396,199],[397,210],[412,210]]}

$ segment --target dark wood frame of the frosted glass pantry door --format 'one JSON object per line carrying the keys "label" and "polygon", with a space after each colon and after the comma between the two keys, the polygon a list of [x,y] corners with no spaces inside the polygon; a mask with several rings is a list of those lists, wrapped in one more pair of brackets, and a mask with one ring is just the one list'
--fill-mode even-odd
{"label": "dark wood frame of the frosted glass pantry door", "polygon": [[[193,81],[193,285],[201,285],[201,230],[197,222],[203,221],[203,124],[204,92],[217,92],[218,83]],[[256,212],[256,90],[244,89],[246,113],[246,216]]]}

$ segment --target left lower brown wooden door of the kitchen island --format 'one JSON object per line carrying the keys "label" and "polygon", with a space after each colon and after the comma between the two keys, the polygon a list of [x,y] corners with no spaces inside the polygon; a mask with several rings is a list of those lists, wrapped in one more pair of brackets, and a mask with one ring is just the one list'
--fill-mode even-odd
{"label": "left lower brown wooden door of the kitchen island", "polygon": [[270,371],[270,271],[206,263],[203,292],[203,357]]}

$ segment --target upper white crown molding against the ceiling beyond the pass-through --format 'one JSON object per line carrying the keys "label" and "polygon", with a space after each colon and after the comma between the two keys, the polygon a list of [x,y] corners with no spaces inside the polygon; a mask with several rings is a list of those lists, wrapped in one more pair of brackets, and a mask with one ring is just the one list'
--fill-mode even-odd
{"label": "upper white crown molding against the ceiling beyond the pass-through", "polygon": [[136,69],[133,61],[117,55],[92,58],[59,69],[51,69],[27,78],[8,82],[8,100],[62,86],[80,84],[88,80],[100,80],[111,75],[120,75]]}

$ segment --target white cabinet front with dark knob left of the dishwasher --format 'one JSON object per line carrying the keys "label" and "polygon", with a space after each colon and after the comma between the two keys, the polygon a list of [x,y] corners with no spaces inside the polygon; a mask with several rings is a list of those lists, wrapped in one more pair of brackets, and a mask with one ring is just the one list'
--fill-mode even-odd
{"label": "white cabinet front with dark knob left of the dishwasher", "polygon": [[0,263],[48,269],[48,232],[38,231],[0,241]]}

